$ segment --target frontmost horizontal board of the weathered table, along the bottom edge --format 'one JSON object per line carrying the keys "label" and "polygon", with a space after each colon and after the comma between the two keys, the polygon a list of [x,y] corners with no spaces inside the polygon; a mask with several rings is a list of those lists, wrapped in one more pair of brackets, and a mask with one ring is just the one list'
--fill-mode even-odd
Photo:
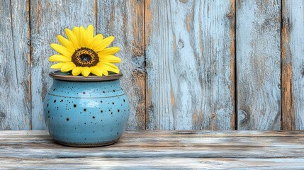
{"label": "frontmost horizontal board of the weathered table, along the bottom edge", "polygon": [[[12,164],[18,162],[18,164]],[[303,158],[54,158],[0,159],[8,169],[303,169]]]}

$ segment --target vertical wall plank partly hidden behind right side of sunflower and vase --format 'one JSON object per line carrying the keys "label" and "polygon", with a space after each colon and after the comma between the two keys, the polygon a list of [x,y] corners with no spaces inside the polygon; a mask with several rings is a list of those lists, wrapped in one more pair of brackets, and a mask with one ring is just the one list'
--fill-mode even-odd
{"label": "vertical wall plank partly hidden behind right side of sunflower and vase", "polygon": [[120,47],[120,84],[130,101],[128,130],[145,129],[144,25],[144,1],[97,1],[97,32],[114,35],[113,46]]}

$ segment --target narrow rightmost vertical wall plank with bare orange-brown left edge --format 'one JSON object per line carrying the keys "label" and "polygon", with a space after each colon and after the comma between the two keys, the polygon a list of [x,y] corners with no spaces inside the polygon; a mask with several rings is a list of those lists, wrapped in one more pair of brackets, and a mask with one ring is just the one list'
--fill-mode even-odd
{"label": "narrow rightmost vertical wall plank with bare orange-brown left edge", "polygon": [[282,1],[282,130],[304,130],[304,2]]}

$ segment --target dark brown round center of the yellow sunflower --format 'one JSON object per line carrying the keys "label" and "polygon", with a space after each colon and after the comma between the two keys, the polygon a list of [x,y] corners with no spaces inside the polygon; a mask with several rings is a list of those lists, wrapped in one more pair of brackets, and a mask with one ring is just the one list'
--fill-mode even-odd
{"label": "dark brown round center of the yellow sunflower", "polygon": [[99,57],[94,50],[81,47],[73,53],[72,62],[74,62],[77,67],[93,67],[98,64]]}

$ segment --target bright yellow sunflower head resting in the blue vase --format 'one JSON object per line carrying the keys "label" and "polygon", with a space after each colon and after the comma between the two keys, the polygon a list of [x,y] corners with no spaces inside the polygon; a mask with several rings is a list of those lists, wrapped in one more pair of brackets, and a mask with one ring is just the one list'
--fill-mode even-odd
{"label": "bright yellow sunflower head resting in the blue vase", "polygon": [[[50,46],[59,52],[52,55],[50,62],[58,62],[51,66],[52,69],[60,69],[61,72],[72,70],[73,76],[81,74],[88,77],[90,73],[102,77],[108,76],[108,72],[119,73],[118,67],[113,63],[121,62],[114,56],[120,50],[119,47],[108,47],[114,40],[113,36],[103,39],[103,35],[94,36],[94,28],[74,27],[73,30],[65,29],[67,38],[57,35],[62,45],[51,44]],[[107,48],[108,47],[108,48]]]}

